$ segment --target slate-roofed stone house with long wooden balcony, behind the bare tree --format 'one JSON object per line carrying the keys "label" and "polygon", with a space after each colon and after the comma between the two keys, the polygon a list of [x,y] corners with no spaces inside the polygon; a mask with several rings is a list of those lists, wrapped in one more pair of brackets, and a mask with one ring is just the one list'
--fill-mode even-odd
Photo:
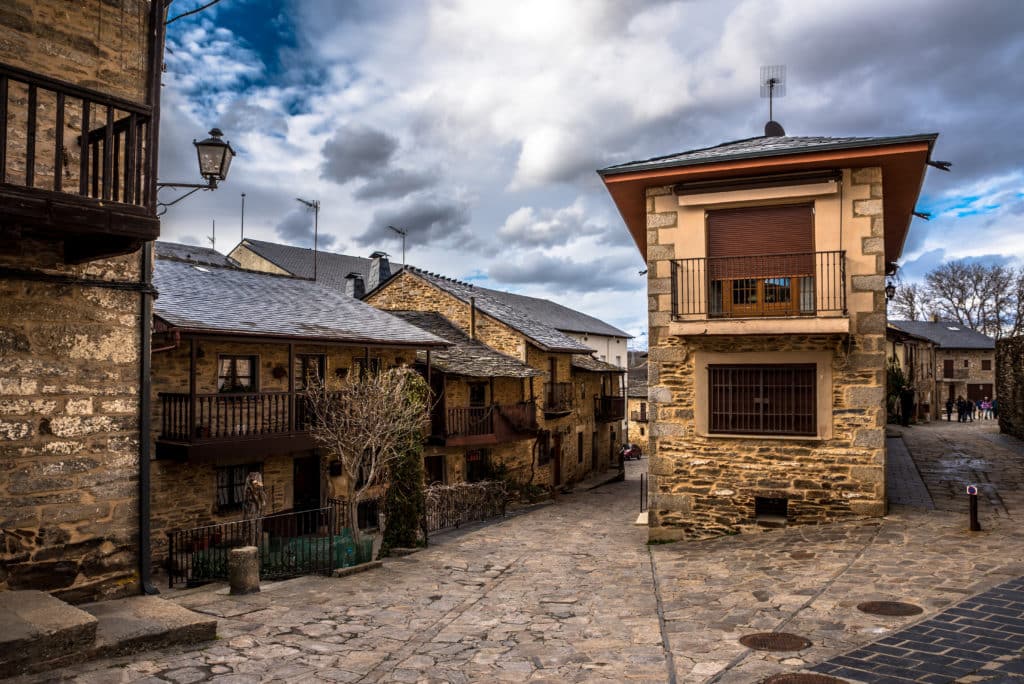
{"label": "slate-roofed stone house with long wooden balcony, behind the bare tree", "polygon": [[[237,520],[247,475],[267,514],[319,508],[341,482],[308,430],[301,392],[353,373],[413,366],[449,343],[310,281],[237,268],[158,243],[153,349],[153,549],[166,532]],[[219,262],[219,263],[218,263]],[[323,458],[322,458],[323,457]]]}

